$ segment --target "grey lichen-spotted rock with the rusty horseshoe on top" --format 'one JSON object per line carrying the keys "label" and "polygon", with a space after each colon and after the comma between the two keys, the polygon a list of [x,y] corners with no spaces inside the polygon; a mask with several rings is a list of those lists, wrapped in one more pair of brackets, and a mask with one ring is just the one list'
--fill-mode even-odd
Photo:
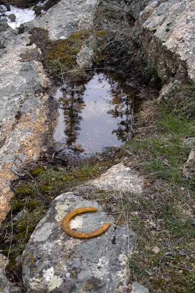
{"label": "grey lichen-spotted rock with the rusty horseshoe on top", "polygon": [[[72,229],[90,231],[103,223],[111,227],[96,238],[76,239],[61,228],[66,213],[81,207],[98,211],[76,216]],[[116,226],[95,201],[72,192],[57,197],[31,235],[22,255],[22,278],[27,292],[124,293],[128,280],[128,255],[135,236],[125,225]]]}

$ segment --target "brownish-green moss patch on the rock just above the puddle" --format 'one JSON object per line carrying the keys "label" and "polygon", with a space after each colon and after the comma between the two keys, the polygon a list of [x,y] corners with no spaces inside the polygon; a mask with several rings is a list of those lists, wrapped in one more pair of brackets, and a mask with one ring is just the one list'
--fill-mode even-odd
{"label": "brownish-green moss patch on the rock just above the puddle", "polygon": [[[77,54],[84,41],[91,36],[97,36],[98,39],[104,38],[107,34],[104,30],[83,30],[72,34],[68,39],[51,41],[48,37],[48,31],[42,28],[34,27],[30,33],[30,43],[36,43],[41,49],[43,64],[50,74],[55,78],[61,78],[65,75],[75,80],[83,80],[88,77],[84,70],[79,71],[76,63]],[[102,60],[102,55],[97,58],[98,63]]]}

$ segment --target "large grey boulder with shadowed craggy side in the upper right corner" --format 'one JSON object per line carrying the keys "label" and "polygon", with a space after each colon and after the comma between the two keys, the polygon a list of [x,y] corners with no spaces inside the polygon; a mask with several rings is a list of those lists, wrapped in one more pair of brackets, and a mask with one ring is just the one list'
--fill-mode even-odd
{"label": "large grey boulder with shadowed craggy side in the upper right corner", "polygon": [[147,60],[161,80],[195,82],[195,0],[151,1],[139,21]]}

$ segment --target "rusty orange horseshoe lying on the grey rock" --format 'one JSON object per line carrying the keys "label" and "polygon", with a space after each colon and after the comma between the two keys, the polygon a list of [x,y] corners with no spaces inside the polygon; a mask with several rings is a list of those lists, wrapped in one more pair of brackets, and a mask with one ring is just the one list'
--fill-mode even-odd
{"label": "rusty orange horseshoe lying on the grey rock", "polygon": [[110,227],[110,223],[106,223],[103,226],[101,226],[100,228],[98,228],[97,230],[90,231],[90,232],[77,232],[77,231],[74,231],[70,228],[69,221],[72,217],[74,217],[75,215],[77,215],[79,213],[91,212],[91,211],[97,211],[97,208],[85,207],[85,208],[80,208],[80,209],[74,209],[70,213],[65,215],[65,217],[62,219],[62,223],[61,223],[62,229],[64,230],[64,232],[66,232],[66,234],[68,234],[74,238],[80,238],[80,239],[92,238],[92,237],[96,237],[96,236],[104,233]]}

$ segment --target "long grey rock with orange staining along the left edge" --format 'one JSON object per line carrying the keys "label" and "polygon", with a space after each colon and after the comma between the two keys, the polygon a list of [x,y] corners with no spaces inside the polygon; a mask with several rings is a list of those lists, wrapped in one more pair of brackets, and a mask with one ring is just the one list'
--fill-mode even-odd
{"label": "long grey rock with orange staining along the left edge", "polygon": [[[29,34],[17,36],[7,44],[0,66],[0,222],[9,210],[13,196],[11,180],[20,166],[39,157],[48,131],[48,95],[42,91],[50,84],[40,62],[21,62],[20,54]],[[39,94],[36,92],[39,91]],[[18,170],[19,169],[19,170]]]}

